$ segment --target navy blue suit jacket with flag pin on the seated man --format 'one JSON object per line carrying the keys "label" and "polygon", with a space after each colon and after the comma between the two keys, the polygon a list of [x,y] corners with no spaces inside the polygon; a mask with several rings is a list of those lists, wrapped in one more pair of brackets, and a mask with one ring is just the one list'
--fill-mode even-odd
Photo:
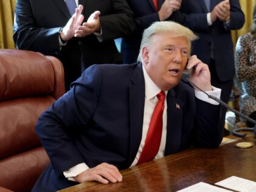
{"label": "navy blue suit jacket with flag pin on the seated man", "polygon": [[[140,146],[145,85],[141,64],[93,65],[62,98],[44,112],[35,128],[51,165],[34,191],[55,191],[74,185],[63,171],[85,162],[107,162],[126,169]],[[192,145],[212,148],[221,143],[219,105],[194,96],[180,82],[168,91],[165,155]],[[179,105],[180,107],[176,107]]]}

